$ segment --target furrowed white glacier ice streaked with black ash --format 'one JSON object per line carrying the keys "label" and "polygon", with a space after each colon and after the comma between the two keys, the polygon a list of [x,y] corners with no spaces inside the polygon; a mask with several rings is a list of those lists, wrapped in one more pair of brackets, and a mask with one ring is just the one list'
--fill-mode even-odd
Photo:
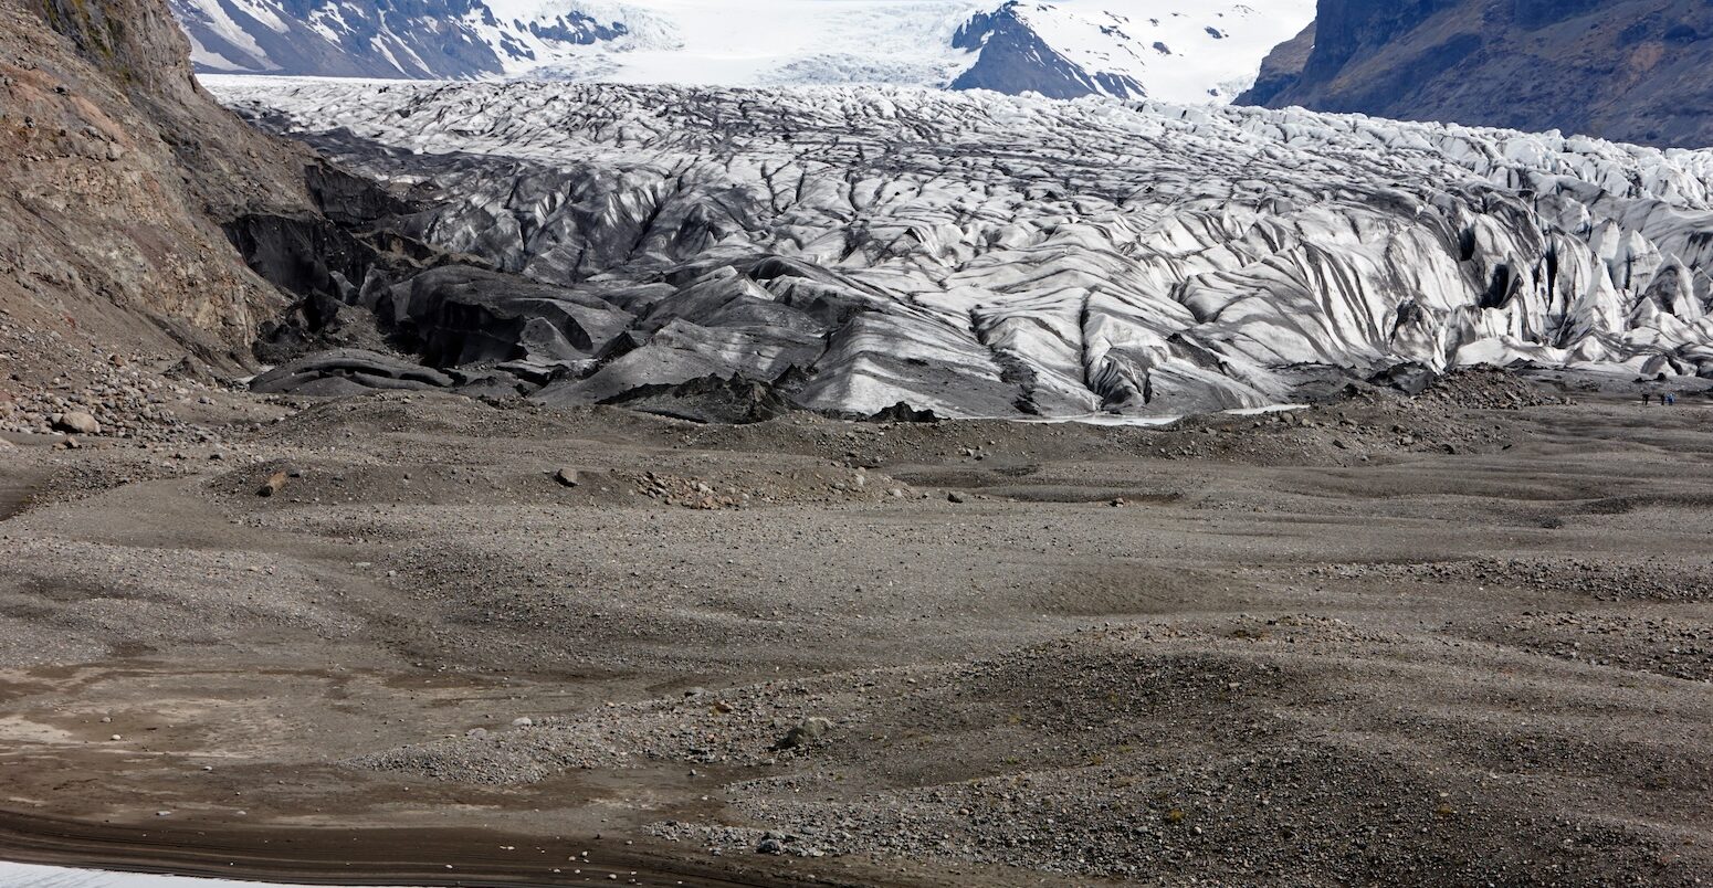
{"label": "furrowed white glacier ice streaked with black ash", "polygon": [[211,87],[432,178],[384,226],[495,270],[349,299],[550,402],[737,373],[841,412],[1158,416],[1401,363],[1713,375],[1713,152],[990,92]]}

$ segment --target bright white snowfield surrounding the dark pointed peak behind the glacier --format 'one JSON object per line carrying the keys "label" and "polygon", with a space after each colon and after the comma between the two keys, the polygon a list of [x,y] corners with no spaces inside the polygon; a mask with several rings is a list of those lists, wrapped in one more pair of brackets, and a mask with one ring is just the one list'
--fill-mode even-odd
{"label": "bright white snowfield surrounding the dark pointed peak behind the glacier", "polygon": [[[1059,0],[1014,7],[1018,21],[1040,38],[1042,51],[1088,74],[1134,79],[1148,98],[1185,103],[1230,101],[1254,84],[1273,46],[1314,21],[1314,0]],[[562,53],[565,58],[526,75],[680,86],[944,87],[982,51],[952,48],[952,36],[973,15],[994,9],[992,0],[589,3],[588,12],[598,19],[671,22],[677,39],[574,46]],[[596,60],[601,67],[588,72]]]}

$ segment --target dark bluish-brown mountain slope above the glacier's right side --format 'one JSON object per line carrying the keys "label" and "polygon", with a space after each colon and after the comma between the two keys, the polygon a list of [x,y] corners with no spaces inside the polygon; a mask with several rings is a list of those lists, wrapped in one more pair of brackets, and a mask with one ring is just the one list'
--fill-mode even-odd
{"label": "dark bluish-brown mountain slope above the glacier's right side", "polygon": [[1708,0],[1321,0],[1238,101],[1706,147],[1710,58]]}

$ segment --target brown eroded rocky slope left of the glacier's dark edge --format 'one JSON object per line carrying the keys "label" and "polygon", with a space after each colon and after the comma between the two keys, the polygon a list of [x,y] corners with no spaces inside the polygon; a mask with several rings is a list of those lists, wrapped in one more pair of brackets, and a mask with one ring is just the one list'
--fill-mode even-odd
{"label": "brown eroded rocky slope left of the glacier's dark edge", "polygon": [[284,305],[221,224],[308,214],[310,156],[219,108],[187,53],[163,0],[0,0],[0,375],[235,364]]}

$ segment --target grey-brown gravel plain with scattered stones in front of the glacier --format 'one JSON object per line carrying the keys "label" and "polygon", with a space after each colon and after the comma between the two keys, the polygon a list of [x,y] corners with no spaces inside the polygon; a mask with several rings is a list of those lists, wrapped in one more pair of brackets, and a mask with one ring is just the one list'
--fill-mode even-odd
{"label": "grey-brown gravel plain with scattered stones in front of the glacier", "polygon": [[19,436],[5,809],[531,885],[1696,885],[1713,407],[1454,385],[1170,429],[216,392],[209,441]]}

